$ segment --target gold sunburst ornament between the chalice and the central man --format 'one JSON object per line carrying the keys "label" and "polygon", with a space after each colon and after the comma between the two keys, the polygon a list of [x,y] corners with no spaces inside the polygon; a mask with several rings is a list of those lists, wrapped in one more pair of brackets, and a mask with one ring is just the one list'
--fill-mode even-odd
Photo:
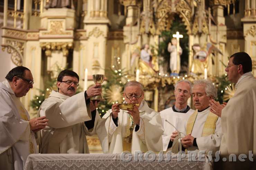
{"label": "gold sunburst ornament between the chalice and the central man", "polygon": [[106,99],[108,104],[112,104],[112,102],[122,103],[122,98],[122,87],[119,85],[114,84],[110,86],[108,91],[106,91]]}

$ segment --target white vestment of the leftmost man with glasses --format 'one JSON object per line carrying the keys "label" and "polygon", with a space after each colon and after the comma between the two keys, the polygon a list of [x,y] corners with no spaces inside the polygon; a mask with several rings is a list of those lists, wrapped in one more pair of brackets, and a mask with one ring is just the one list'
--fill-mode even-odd
{"label": "white vestment of the leftmost man with glasses", "polygon": [[28,155],[38,150],[29,114],[7,80],[0,83],[0,107],[0,154],[11,149],[14,168],[23,169]]}

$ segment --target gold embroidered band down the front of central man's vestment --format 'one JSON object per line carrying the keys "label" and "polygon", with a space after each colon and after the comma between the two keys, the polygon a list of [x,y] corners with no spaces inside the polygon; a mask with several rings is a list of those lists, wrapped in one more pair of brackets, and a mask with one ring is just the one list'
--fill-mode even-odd
{"label": "gold embroidered band down the front of central man's vestment", "polygon": [[132,141],[132,132],[134,129],[134,121],[130,114],[128,114],[125,138],[123,140],[123,151],[131,152],[131,141]]}

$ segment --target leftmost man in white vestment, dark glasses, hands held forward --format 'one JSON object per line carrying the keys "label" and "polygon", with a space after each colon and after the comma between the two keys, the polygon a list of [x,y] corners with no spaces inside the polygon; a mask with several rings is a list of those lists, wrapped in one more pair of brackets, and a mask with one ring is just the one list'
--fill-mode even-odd
{"label": "leftmost man in white vestment, dark glasses, hands held forward", "polygon": [[35,132],[45,128],[45,117],[30,119],[20,102],[33,88],[33,76],[26,67],[13,68],[0,83],[0,169],[22,170],[30,153],[38,153]]}

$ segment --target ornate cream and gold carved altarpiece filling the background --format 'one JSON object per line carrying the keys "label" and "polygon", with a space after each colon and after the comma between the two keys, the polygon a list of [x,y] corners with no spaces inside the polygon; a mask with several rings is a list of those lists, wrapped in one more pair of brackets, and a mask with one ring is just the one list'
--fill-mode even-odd
{"label": "ornate cream and gold carved altarpiece filling the background", "polygon": [[[139,63],[138,60],[131,63],[134,51],[138,53],[145,43],[157,47],[161,41],[159,34],[171,28],[174,14],[184,22],[189,36],[189,71],[187,76],[165,76],[166,71],[158,67],[155,50],[153,58],[157,72],[143,73],[141,70],[139,80],[148,90],[146,97],[152,102],[152,108],[163,109],[163,103],[158,101],[162,93],[158,90],[163,86],[183,78],[202,78],[203,75],[191,74],[198,67],[193,67],[193,44],[199,44],[203,49],[211,43],[223,54],[208,55],[209,61],[201,66],[207,68],[208,77],[225,73],[222,62],[227,64],[230,54],[226,52],[229,34],[223,8],[233,0],[210,0],[207,4],[204,0],[78,0],[73,1],[72,7],[45,9],[48,1],[26,0],[23,10],[19,10],[17,0],[14,9],[8,8],[8,0],[4,0],[2,49],[7,49],[17,66],[30,68],[36,82],[34,89],[22,99],[26,108],[37,93],[35,89],[44,87],[45,76],[54,70],[55,63],[63,68],[67,63],[71,64],[81,78],[84,69],[88,68],[90,85],[92,74],[104,74],[104,69],[112,66],[115,58],[120,58],[118,69],[130,70],[130,79],[135,79]],[[109,29],[111,22],[113,24],[113,3],[124,6],[126,24],[122,30]],[[243,18],[245,51],[255,63],[255,3],[246,0],[246,4]],[[8,18],[13,19],[13,25],[8,25]]]}

